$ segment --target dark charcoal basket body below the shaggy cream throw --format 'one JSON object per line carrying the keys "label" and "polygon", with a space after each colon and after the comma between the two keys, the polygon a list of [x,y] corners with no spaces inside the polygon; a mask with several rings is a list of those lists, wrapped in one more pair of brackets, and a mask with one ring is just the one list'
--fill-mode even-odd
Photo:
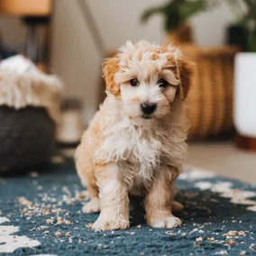
{"label": "dark charcoal basket body below the shaggy cream throw", "polygon": [[18,174],[50,163],[55,124],[43,107],[0,106],[0,175]]}

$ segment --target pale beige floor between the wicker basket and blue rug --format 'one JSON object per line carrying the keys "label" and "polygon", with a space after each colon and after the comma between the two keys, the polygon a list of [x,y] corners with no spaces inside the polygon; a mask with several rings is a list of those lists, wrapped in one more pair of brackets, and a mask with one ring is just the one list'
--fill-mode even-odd
{"label": "pale beige floor between the wicker basket and blue rug", "polygon": [[238,150],[231,142],[190,144],[186,165],[256,184],[256,152]]}

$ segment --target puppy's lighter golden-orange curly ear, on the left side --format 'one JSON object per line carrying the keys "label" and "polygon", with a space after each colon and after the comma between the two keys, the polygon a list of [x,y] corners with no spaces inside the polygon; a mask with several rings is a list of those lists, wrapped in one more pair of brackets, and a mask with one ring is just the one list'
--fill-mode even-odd
{"label": "puppy's lighter golden-orange curly ear, on the left side", "polygon": [[114,96],[120,95],[120,87],[114,81],[114,75],[119,71],[119,60],[118,56],[114,56],[113,58],[105,59],[102,65],[105,87]]}

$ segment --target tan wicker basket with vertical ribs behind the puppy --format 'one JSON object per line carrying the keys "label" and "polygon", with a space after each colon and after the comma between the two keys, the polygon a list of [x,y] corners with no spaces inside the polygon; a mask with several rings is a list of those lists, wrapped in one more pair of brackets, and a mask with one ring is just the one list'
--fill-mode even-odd
{"label": "tan wicker basket with vertical ribs behind the puppy", "polygon": [[200,140],[229,133],[233,128],[233,59],[237,49],[192,44],[180,49],[197,64],[194,87],[187,97],[189,138]]}

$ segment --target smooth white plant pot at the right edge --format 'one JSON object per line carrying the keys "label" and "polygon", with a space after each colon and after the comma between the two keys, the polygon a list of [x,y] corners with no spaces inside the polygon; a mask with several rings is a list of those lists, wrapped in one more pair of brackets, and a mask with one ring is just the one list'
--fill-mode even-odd
{"label": "smooth white plant pot at the right edge", "polygon": [[235,56],[234,125],[239,135],[256,138],[256,53]]}

